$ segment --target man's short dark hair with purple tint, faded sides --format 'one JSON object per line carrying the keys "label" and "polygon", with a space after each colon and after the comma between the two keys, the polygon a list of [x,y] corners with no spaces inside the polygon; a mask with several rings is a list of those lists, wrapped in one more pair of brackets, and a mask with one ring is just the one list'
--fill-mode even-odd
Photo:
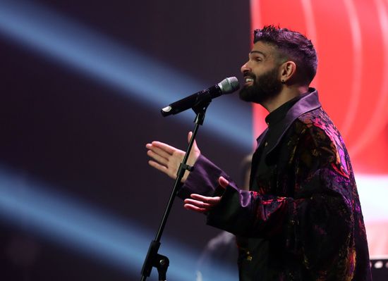
{"label": "man's short dark hair with purple tint, faded sides", "polygon": [[296,79],[310,84],[317,73],[317,53],[305,35],[287,28],[265,25],[254,32],[253,43],[258,41],[272,44],[279,50],[281,59],[296,63]]}

